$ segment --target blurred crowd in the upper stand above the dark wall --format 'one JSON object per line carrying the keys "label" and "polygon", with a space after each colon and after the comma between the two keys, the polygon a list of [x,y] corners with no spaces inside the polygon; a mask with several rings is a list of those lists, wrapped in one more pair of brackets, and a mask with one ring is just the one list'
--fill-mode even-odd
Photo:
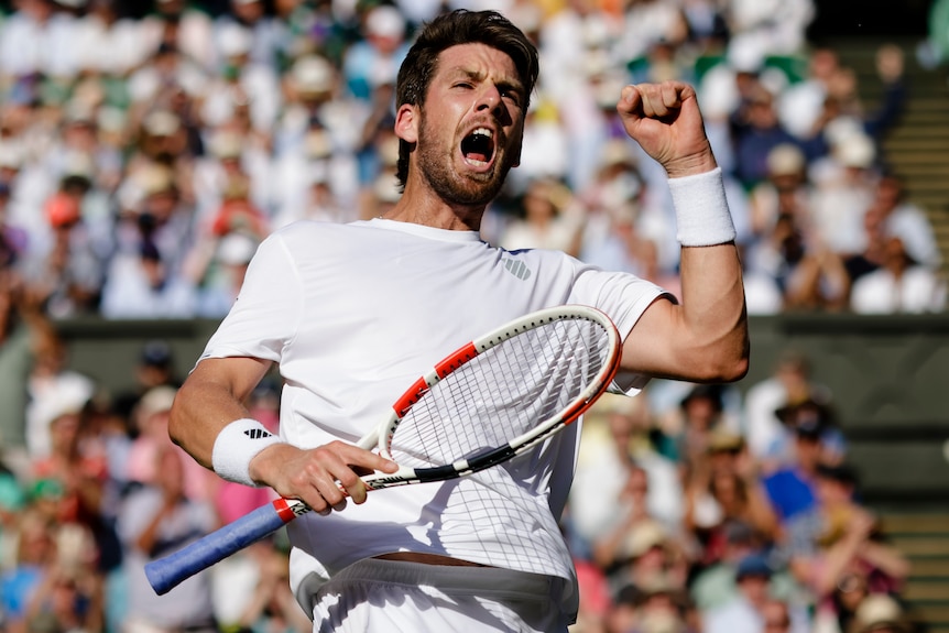
{"label": "blurred crowd in the upper stand above the dark wall", "polygon": [[[270,231],[384,211],[399,196],[399,64],[417,25],[455,4],[13,2],[0,270],[19,301],[52,318],[217,318]],[[932,227],[883,152],[907,98],[902,50],[879,51],[870,108],[854,69],[807,41],[811,0],[492,8],[545,70],[487,239],[676,291],[664,174],[614,107],[624,84],[677,78],[696,86],[728,177],[753,314],[943,309]]]}

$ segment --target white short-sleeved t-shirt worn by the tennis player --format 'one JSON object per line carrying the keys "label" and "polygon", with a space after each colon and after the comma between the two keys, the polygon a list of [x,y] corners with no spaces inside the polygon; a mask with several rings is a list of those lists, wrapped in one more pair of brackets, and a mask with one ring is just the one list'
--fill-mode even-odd
{"label": "white short-sleeved t-shirt worn by the tennis player", "polygon": [[[280,363],[281,434],[301,447],[356,440],[386,417],[425,371],[467,341],[561,304],[598,306],[622,336],[662,288],[593,269],[558,251],[509,252],[477,232],[373,219],[302,221],[269,237],[233,309],[201,358]],[[643,376],[615,388],[635,393]],[[578,427],[579,425],[574,425]],[[557,517],[578,428],[502,467],[449,481],[373,492],[331,516],[290,524],[291,583],[315,587],[362,558],[441,554],[575,582]],[[576,602],[576,592],[565,600]]]}

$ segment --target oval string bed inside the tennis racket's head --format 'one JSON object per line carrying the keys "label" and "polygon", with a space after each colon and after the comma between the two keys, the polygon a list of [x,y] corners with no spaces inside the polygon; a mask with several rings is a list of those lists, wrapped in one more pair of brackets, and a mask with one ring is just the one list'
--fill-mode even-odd
{"label": "oval string bed inside the tennis racket's head", "polygon": [[415,403],[390,438],[395,461],[451,463],[508,445],[569,407],[600,374],[609,337],[564,319],[517,334],[449,373]]}

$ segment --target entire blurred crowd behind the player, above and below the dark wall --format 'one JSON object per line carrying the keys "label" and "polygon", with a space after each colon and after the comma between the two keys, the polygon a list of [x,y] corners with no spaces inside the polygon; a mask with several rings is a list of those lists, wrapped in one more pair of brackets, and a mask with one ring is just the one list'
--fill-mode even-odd
{"label": "entire blurred crowd behind the player, above and below the dark wall", "polygon": [[[145,6],[148,4],[148,6]],[[283,536],[168,596],[142,567],[270,499],[173,446],[167,345],[109,393],[59,319],[220,318],[269,232],[399,197],[399,64],[447,2],[18,0],[0,21],[0,623],[11,633],[308,631]],[[465,3],[467,8],[489,8]],[[501,0],[537,42],[521,166],[486,217],[679,292],[664,174],[623,85],[699,95],[751,314],[931,313],[941,255],[883,140],[907,99],[882,46],[858,74],[808,42],[811,0]],[[866,80],[865,78],[863,80]],[[188,359],[190,360],[190,359]],[[585,428],[565,535],[578,633],[908,631],[908,568],[860,503],[831,394],[788,354],[745,393],[654,381]],[[276,428],[279,385],[252,414]]]}

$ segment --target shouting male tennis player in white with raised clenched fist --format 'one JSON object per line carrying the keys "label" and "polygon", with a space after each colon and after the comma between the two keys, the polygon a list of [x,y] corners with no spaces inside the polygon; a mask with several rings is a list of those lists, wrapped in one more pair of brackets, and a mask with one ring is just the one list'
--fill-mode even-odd
{"label": "shouting male tennis player in white with raised clenched fist", "polygon": [[[175,402],[171,434],[200,463],[316,511],[288,526],[291,583],[314,631],[548,632],[575,618],[576,575],[557,522],[579,425],[526,459],[363,503],[358,472],[394,466],[351,443],[459,345],[576,303],[604,310],[624,337],[615,391],[633,395],[651,376],[724,382],[746,371],[735,232],[685,84],[618,95],[626,132],[668,173],[680,304],[561,252],[481,240],[486,207],[519,163],[537,64],[534,45],[497,12],[425,25],[397,79],[401,200],[372,220],[271,234]],[[274,363],[280,437],[242,405]]]}

